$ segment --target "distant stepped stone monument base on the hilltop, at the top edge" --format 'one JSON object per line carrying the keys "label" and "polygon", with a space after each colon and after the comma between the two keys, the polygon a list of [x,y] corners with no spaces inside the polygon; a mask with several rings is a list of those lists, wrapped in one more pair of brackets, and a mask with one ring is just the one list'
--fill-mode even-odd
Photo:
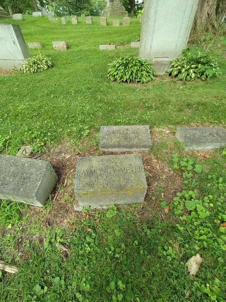
{"label": "distant stepped stone monument base on the hilltop, at the top edge", "polygon": [[102,17],[128,17],[128,11],[122,5],[122,0],[107,0]]}

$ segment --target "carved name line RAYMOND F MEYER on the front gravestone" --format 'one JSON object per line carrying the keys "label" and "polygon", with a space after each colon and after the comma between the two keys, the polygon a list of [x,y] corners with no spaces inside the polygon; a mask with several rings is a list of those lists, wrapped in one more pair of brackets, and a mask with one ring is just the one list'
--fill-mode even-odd
{"label": "carved name line RAYMOND F MEYER on the front gravestone", "polygon": [[99,168],[99,169],[88,169],[88,170],[77,170],[77,176],[94,176],[94,175],[109,175],[117,173],[139,173],[143,172],[144,168],[142,166],[135,167],[119,167],[119,168]]}

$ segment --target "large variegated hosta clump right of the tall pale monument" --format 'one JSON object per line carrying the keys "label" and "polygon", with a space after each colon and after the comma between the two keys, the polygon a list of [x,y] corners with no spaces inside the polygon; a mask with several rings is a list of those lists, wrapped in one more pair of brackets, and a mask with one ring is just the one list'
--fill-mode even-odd
{"label": "large variegated hosta clump right of the tall pale monument", "polygon": [[183,56],[172,61],[171,65],[173,67],[166,72],[168,76],[177,77],[183,81],[195,79],[205,81],[221,74],[216,60],[201,47],[195,49],[187,47],[183,51]]}

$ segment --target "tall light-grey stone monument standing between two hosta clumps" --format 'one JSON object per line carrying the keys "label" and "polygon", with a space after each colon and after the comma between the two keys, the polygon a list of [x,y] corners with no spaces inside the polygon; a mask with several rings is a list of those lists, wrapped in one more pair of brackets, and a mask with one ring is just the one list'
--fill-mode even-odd
{"label": "tall light-grey stone monument standing between two hosta clumps", "polygon": [[144,2],[139,57],[153,59],[158,74],[186,47],[197,5],[198,0]]}

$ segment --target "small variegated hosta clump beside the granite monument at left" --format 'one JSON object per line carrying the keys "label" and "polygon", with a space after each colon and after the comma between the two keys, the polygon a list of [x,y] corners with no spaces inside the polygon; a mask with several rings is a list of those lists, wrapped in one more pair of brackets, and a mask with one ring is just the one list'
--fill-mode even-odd
{"label": "small variegated hosta clump beside the granite monument at left", "polygon": [[25,61],[25,64],[22,65],[21,71],[26,72],[41,72],[45,69],[52,67],[53,64],[50,58],[46,58],[42,54],[37,56],[32,56]]}

